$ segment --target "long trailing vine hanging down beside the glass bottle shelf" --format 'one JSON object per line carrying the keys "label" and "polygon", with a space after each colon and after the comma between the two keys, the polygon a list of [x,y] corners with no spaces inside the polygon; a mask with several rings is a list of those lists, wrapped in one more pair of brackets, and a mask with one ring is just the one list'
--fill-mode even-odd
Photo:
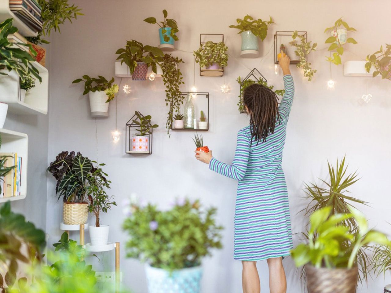
{"label": "long trailing vine hanging down beside the glass bottle shelf", "polygon": [[165,54],[163,56],[163,62],[160,63],[161,70],[163,71],[163,83],[166,86],[166,106],[169,106],[169,112],[167,113],[167,134],[170,136],[170,128],[174,115],[174,111],[179,113],[180,106],[183,104],[184,96],[181,95],[179,87],[181,84],[185,84],[182,81],[183,76],[179,69],[179,64],[183,63],[182,59],[178,57],[172,57],[171,54]]}

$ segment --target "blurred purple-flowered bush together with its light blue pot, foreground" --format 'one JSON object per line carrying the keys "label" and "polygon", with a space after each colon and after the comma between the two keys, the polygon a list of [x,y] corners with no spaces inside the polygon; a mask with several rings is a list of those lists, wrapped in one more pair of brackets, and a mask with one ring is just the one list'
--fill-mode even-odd
{"label": "blurred purple-flowered bush together with its light blue pot, foreground", "polygon": [[204,210],[198,200],[180,199],[170,210],[134,203],[130,210],[123,225],[130,237],[127,256],[147,263],[148,292],[199,293],[201,259],[213,248],[222,248],[216,209]]}

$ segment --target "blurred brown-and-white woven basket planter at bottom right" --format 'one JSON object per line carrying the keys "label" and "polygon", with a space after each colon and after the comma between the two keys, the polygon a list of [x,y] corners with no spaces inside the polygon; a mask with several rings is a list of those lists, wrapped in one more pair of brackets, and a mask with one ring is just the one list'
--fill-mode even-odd
{"label": "blurred brown-and-white woven basket planter at bottom right", "polygon": [[309,293],[355,293],[358,270],[315,268],[305,265]]}

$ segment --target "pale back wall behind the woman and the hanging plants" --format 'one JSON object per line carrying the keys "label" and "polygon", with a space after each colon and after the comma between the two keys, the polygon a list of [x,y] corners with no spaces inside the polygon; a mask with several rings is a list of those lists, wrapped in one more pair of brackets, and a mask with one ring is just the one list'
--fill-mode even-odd
{"label": "pale back wall behind the woman and the hanging plants", "polygon": [[[323,33],[340,16],[355,27],[357,45],[348,45],[343,61],[361,60],[378,50],[380,44],[390,43],[389,11],[387,0],[377,1],[125,1],[125,0],[77,0],[83,8],[73,25],[66,24],[61,35],[53,36],[52,74],[50,89],[50,125],[48,161],[62,150],[81,151],[91,159],[98,159],[108,166],[105,170],[113,182],[110,193],[117,202],[135,192],[141,197],[166,205],[174,197],[187,195],[201,198],[205,205],[219,208],[218,222],[224,230],[224,249],[213,252],[204,259],[203,292],[240,292],[241,264],[233,260],[233,213],[235,209],[236,182],[210,172],[205,164],[193,157],[194,145],[191,132],[165,133],[167,109],[164,102],[164,86],[160,79],[154,82],[122,80],[132,92],[120,92],[118,102],[118,130],[122,136],[113,143],[111,131],[115,129],[115,103],[110,105],[108,119],[94,120],[89,115],[88,98],[81,96],[82,86],[71,85],[72,80],[83,74],[114,75],[115,51],[126,40],[136,39],[144,44],[157,45],[157,26],[144,23],[149,16],[161,18],[161,10],[167,9],[169,17],[179,23],[180,41],[176,47],[192,51],[199,46],[200,33],[223,33],[229,47],[230,59],[224,77],[199,77],[195,67],[195,84],[199,91],[210,92],[210,130],[204,133],[204,141],[213,155],[230,163],[235,149],[237,130],[246,126],[248,118],[237,111],[239,86],[235,79],[245,77],[256,67],[273,84],[282,88],[282,76],[274,74],[273,34],[276,30],[306,30],[308,39],[317,42],[319,49],[309,60],[318,70],[312,82],[307,82],[301,71],[291,67],[296,84],[295,100],[288,126],[284,150],[283,168],[287,178],[293,232],[303,231],[303,220],[297,215],[304,207],[303,181],[313,181],[327,176],[326,159],[334,162],[347,155],[350,171],[359,168],[362,179],[352,186],[352,195],[371,202],[362,211],[378,229],[388,230],[389,216],[389,163],[391,143],[389,125],[391,116],[391,83],[387,80],[344,77],[343,66],[332,66],[335,89],[329,90],[329,63]],[[377,8],[375,8],[375,6]],[[375,14],[372,12],[375,9]],[[228,26],[246,13],[255,17],[273,16],[277,25],[271,26],[268,36],[260,43],[262,57],[241,59],[240,36]],[[387,31],[388,30],[388,31]],[[173,55],[183,58],[181,65],[187,91],[193,86],[193,57],[191,53],[176,50]],[[120,79],[116,79],[120,82]],[[224,82],[231,92],[223,94]],[[367,89],[368,88],[368,89]],[[360,103],[364,93],[373,95],[369,104]],[[126,121],[135,110],[151,114],[152,121],[160,127],[153,138],[153,154],[131,156],[125,154],[124,129]],[[95,136],[97,132],[97,138]],[[42,169],[41,169],[42,170]],[[42,171],[39,172],[42,172]],[[59,238],[62,204],[56,204],[54,179],[48,180],[47,231],[50,241]],[[111,227],[110,239],[121,242],[125,254],[126,234],[121,225],[124,220],[122,207],[115,207],[101,218]],[[91,218],[91,223],[93,219]],[[74,238],[77,236],[74,235]],[[297,237],[296,237],[297,238]],[[111,256],[109,256],[111,257]],[[299,273],[289,258],[284,261],[288,278],[288,292],[301,292]],[[136,293],[146,292],[142,264],[136,260],[121,259],[124,283]],[[263,292],[267,292],[267,266],[258,264]],[[384,284],[391,282],[387,276],[369,281],[359,292],[382,292]]]}

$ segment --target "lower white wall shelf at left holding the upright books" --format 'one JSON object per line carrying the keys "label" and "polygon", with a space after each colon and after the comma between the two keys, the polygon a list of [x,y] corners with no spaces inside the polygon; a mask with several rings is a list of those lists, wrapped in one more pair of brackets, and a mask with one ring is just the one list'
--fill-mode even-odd
{"label": "lower white wall shelf at left holding the upright books", "polygon": [[16,132],[0,128],[2,145],[2,153],[18,153],[18,157],[22,157],[22,172],[21,172],[21,191],[16,197],[0,198],[0,202],[8,200],[20,200],[26,197],[27,193],[27,155],[29,154],[29,137],[25,133]]}

